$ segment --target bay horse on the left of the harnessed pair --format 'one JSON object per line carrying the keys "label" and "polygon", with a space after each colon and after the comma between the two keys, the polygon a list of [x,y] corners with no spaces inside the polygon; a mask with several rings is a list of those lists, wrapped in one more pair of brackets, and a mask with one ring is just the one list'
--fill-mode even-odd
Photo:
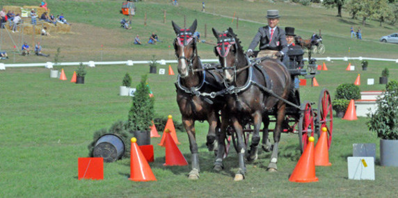
{"label": "bay horse on the left of the harnessed pair", "polygon": [[207,70],[202,65],[196,47],[197,20],[189,28],[180,28],[172,22],[175,34],[173,46],[175,57],[178,60],[178,77],[175,86],[177,88],[177,104],[182,115],[189,138],[189,149],[191,150],[191,172],[189,179],[199,179],[199,157],[198,145],[196,143],[196,121],[207,121],[209,131],[207,133],[207,147],[209,151],[216,148],[217,136],[221,130],[219,111],[223,106],[220,99],[223,86],[223,77],[216,70]]}

